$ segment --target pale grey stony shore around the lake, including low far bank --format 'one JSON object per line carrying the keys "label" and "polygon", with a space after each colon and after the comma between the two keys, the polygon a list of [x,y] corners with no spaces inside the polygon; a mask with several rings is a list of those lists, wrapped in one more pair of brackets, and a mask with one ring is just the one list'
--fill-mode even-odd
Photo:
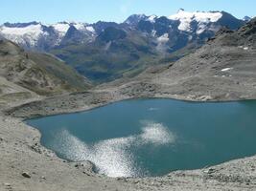
{"label": "pale grey stony shore around the lake, including low far bank", "polygon": [[[256,190],[256,156],[198,170],[176,171],[156,178],[107,178],[90,162],[67,162],[40,145],[40,134],[23,119],[93,109],[128,98],[190,96],[144,94],[122,89],[49,97],[2,111],[0,115],[0,190]],[[194,101],[204,100],[198,96]],[[231,100],[231,99],[230,99]]]}

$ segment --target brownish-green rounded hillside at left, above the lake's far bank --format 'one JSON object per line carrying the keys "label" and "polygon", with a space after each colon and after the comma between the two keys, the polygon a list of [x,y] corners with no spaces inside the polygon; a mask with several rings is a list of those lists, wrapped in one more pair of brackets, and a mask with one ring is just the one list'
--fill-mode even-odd
{"label": "brownish-green rounded hillside at left, above the lake's far bank", "polygon": [[90,84],[50,54],[29,53],[0,40],[0,102],[86,90]]}

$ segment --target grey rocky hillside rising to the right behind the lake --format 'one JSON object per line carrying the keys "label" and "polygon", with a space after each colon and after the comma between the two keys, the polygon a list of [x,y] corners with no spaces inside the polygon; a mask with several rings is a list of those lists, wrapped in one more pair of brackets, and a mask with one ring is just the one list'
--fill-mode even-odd
{"label": "grey rocky hillside rising to the right behind the lake", "polygon": [[222,29],[196,53],[166,67],[154,67],[128,83],[116,81],[132,96],[190,100],[256,98],[256,18],[239,30]]}

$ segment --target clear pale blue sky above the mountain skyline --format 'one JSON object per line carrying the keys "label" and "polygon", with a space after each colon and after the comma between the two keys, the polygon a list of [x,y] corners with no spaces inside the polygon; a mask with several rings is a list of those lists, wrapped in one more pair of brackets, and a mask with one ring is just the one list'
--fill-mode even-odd
{"label": "clear pale blue sky above the mountain skyline", "polygon": [[256,15],[256,0],[3,0],[0,23],[124,21],[133,13],[171,15],[185,11],[228,11],[243,18]]}

